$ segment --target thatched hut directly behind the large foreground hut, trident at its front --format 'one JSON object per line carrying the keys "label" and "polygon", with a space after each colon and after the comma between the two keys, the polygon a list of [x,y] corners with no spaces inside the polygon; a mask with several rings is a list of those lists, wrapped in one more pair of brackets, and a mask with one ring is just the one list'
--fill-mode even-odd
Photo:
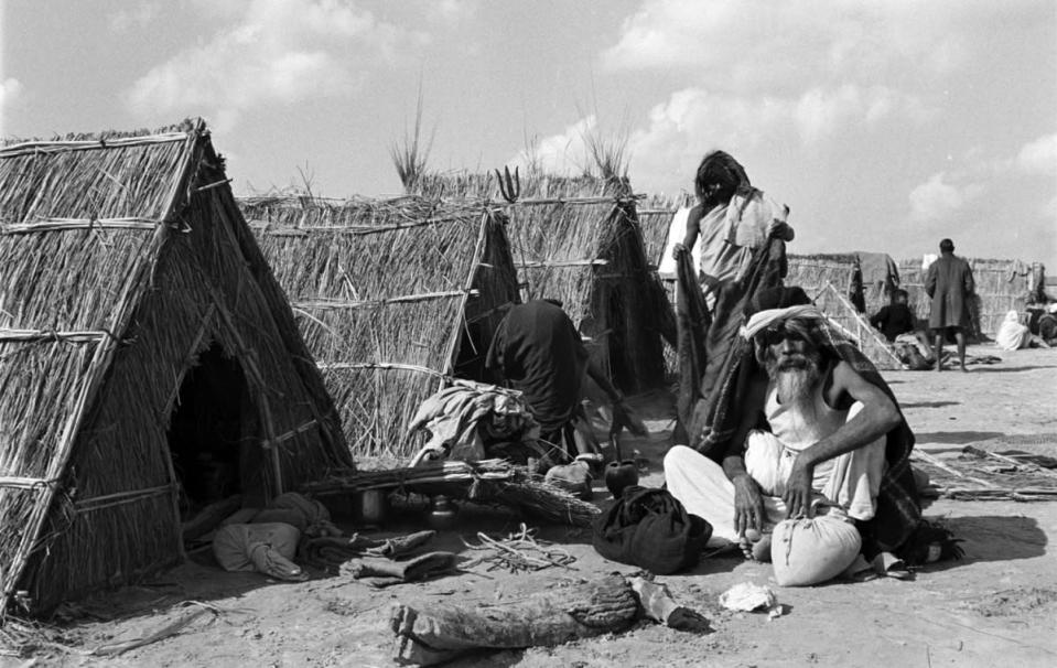
{"label": "thatched hut directly behind the large foreground hut, trident at its front", "polygon": [[405,459],[407,425],[453,377],[490,381],[484,357],[517,272],[504,216],[419,197],[240,202],[298,314],[357,459]]}

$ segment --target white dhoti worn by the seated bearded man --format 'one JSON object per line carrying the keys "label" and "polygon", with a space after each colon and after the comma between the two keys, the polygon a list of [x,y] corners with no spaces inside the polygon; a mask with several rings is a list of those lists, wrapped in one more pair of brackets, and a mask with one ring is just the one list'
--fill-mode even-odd
{"label": "white dhoti worn by the seated bearded man", "polygon": [[[862,409],[856,402],[848,411],[848,420]],[[844,453],[815,468],[812,487],[818,498],[844,509],[854,519],[872,519],[884,474],[885,438]],[[759,485],[766,521],[764,529],[786,518],[781,495],[797,451],[787,448],[765,431],[753,431],[747,439],[745,470]],[[684,445],[676,445],[665,455],[665,482],[672,496],[687,511],[712,525],[710,547],[736,542],[734,528],[734,484],[722,466]]]}

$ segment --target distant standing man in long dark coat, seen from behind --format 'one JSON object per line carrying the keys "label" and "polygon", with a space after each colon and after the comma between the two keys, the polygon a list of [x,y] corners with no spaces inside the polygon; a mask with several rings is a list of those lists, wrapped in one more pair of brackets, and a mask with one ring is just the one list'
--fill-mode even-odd
{"label": "distant standing man in long dark coat, seen from behind", "polygon": [[954,255],[954,243],[939,243],[939,258],[928,266],[925,291],[932,299],[928,326],[936,346],[936,370],[943,370],[943,337],[950,332],[958,342],[958,360],[966,369],[966,327],[969,326],[969,295],[974,285],[972,269],[963,258]]}

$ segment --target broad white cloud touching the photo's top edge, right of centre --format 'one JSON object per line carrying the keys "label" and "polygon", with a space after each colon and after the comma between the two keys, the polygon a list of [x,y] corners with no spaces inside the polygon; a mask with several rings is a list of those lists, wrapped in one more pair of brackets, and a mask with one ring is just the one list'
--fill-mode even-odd
{"label": "broad white cloud touching the photo's top edge, right of centre", "polygon": [[973,31],[993,30],[994,19],[1015,11],[954,0],[644,0],[602,62],[611,69],[692,69],[710,88],[740,91],[869,85],[907,72],[951,72]]}

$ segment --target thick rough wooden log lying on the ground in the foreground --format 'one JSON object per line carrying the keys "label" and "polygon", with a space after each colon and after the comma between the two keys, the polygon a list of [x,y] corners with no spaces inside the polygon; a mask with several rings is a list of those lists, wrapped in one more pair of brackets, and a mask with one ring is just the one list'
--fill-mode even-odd
{"label": "thick rough wooden log lying on the ground in the foreground", "polygon": [[553,646],[618,633],[635,623],[639,611],[628,582],[608,575],[497,605],[398,604],[389,625],[398,664],[433,666],[474,649]]}

